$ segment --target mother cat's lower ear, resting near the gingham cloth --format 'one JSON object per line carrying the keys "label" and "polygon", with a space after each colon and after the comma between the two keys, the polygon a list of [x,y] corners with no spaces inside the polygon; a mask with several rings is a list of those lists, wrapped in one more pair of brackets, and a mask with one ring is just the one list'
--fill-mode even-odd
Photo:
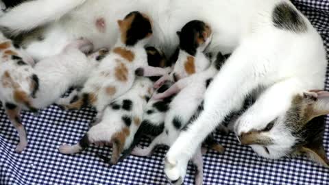
{"label": "mother cat's lower ear, resting near the gingham cloth", "polygon": [[304,146],[301,149],[302,152],[306,153],[308,158],[310,160],[313,160],[314,162],[317,162],[321,165],[323,165],[326,168],[329,168],[329,160],[326,155],[326,151],[324,150],[324,145],[322,143],[319,143],[319,145],[315,146]]}

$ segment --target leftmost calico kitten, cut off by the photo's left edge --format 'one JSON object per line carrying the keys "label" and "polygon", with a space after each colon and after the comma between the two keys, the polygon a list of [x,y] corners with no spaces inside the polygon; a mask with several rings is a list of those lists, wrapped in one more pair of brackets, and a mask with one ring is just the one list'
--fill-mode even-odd
{"label": "leftmost calico kitten, cut off by the photo's left edge", "polygon": [[10,122],[19,132],[19,145],[15,151],[21,152],[27,141],[25,128],[16,112],[19,112],[21,107],[37,112],[32,97],[35,97],[38,91],[38,77],[33,69],[34,60],[2,33],[0,33],[0,57],[0,101]]}

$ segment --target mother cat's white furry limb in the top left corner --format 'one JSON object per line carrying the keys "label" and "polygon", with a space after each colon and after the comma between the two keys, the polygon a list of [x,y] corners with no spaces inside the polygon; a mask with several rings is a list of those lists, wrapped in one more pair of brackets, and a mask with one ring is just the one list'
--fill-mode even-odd
{"label": "mother cat's white furry limb in the top left corner", "polygon": [[0,26],[12,34],[34,29],[64,16],[86,0],[37,0],[21,3],[1,16]]}

